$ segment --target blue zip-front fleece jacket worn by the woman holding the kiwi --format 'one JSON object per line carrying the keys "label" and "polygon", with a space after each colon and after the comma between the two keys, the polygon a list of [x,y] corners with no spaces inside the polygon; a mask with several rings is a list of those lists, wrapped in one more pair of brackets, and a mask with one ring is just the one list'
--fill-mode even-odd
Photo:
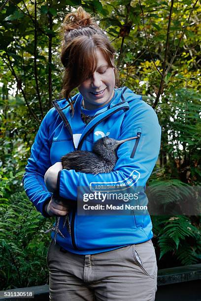
{"label": "blue zip-front fleece jacket worn by the woman holding the kiwi", "polygon": [[[82,95],[72,97],[77,116],[81,110]],[[44,183],[47,169],[61,157],[74,151],[73,120],[67,100],[54,100],[52,108],[44,117],[36,134],[31,156],[25,168],[23,184],[29,199],[43,216],[51,193]],[[145,187],[156,164],[161,139],[161,127],[155,111],[140,95],[127,87],[115,89],[108,106],[97,111],[95,118],[84,128],[77,150],[92,151],[94,143],[102,136],[122,140],[136,136],[135,140],[123,143],[117,151],[118,160],[110,173],[98,175],[63,169],[59,172],[57,193],[76,204],[81,187],[94,190],[97,185]],[[103,189],[104,190],[104,189]],[[143,190],[140,204],[148,200]],[[76,254],[94,254],[122,246],[148,241],[153,237],[149,214],[131,215],[80,215],[76,206],[69,212],[71,236],[67,229],[60,230],[65,239],[57,235],[57,242]],[[51,237],[54,237],[52,232]]]}

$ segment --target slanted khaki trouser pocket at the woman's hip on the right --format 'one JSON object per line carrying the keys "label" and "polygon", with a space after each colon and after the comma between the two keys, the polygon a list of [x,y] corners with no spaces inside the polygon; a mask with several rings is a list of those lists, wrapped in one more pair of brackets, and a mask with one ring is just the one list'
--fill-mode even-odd
{"label": "slanted khaki trouser pocket at the woman's hip on the right", "polygon": [[132,246],[135,263],[149,277],[154,278],[158,271],[156,254],[151,240]]}

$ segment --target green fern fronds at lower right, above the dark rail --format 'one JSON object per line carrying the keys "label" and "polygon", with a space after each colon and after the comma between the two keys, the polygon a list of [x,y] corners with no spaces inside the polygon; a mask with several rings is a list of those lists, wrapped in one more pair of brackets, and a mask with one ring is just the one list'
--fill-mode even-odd
{"label": "green fern fronds at lower right, above the dark rail", "polygon": [[158,260],[175,258],[177,266],[200,263],[201,186],[164,179],[164,172],[155,167],[146,191]]}

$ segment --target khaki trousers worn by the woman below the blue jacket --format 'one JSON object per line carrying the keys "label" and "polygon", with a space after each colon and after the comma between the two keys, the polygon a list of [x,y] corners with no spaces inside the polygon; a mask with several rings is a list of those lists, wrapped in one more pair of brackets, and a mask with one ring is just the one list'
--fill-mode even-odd
{"label": "khaki trousers worn by the woman below the blue jacket", "polygon": [[47,252],[51,301],[154,301],[157,263],[151,240],[78,255],[51,241]]}

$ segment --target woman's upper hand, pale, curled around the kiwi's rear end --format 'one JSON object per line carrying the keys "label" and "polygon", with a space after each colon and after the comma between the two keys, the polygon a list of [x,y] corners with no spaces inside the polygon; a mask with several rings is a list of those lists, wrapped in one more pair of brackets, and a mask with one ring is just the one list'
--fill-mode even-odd
{"label": "woman's upper hand, pale, curled around the kiwi's rear end", "polygon": [[57,190],[57,178],[60,170],[63,169],[62,162],[57,162],[50,166],[45,173],[44,180],[47,189],[50,192],[55,192]]}

